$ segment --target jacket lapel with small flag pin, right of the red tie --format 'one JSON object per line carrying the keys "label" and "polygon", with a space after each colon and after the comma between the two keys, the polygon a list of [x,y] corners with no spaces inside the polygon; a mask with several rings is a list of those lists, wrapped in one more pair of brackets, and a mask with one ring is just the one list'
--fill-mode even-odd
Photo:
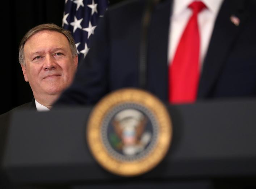
{"label": "jacket lapel with small flag pin, right of the red tie", "polygon": [[[213,92],[214,84],[221,73],[232,44],[245,22],[246,15],[243,3],[243,0],[224,0],[221,6],[203,62],[198,98],[209,97]],[[240,19],[239,26],[231,22],[231,16]]]}

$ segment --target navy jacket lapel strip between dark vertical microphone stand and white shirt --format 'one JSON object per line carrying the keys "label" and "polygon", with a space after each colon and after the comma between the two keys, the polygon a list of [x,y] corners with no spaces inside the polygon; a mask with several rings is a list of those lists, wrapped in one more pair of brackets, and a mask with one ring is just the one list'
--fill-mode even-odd
{"label": "navy jacket lapel strip between dark vertical microphone stand and white shirt", "polygon": [[168,68],[167,52],[171,0],[159,3],[151,17],[148,38],[147,89],[167,101]]}

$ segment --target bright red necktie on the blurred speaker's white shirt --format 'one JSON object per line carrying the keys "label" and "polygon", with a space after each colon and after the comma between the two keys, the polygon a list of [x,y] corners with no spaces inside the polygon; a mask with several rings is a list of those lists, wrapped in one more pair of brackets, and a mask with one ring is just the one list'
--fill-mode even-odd
{"label": "bright red necktie on the blurred speaker's white shirt", "polygon": [[200,36],[197,14],[205,8],[201,1],[189,5],[193,10],[181,36],[173,62],[169,66],[169,102],[191,103],[196,101],[199,81]]}

